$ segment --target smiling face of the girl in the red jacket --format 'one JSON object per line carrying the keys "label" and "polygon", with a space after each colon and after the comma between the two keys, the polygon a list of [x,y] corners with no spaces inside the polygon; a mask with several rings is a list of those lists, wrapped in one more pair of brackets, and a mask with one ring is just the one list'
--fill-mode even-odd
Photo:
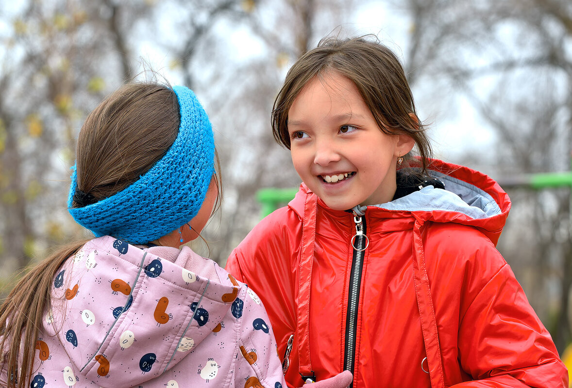
{"label": "smiling face of the girl in the red jacket", "polygon": [[411,151],[407,135],[386,135],[349,79],[329,72],[313,78],[288,111],[292,163],[329,208],[391,201],[399,156]]}

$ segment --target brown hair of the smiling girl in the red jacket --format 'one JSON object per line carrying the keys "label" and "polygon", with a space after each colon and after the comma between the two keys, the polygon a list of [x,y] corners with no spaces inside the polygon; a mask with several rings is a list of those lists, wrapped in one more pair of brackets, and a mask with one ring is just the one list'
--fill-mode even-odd
{"label": "brown hair of the smiling girl in the red jacket", "polygon": [[[358,87],[382,132],[387,135],[405,134],[415,140],[420,156],[420,173],[426,174],[432,155],[426,128],[417,119],[402,64],[377,38],[375,41],[366,37],[325,38],[316,48],[296,60],[286,75],[272,110],[272,132],[276,141],[290,149],[288,111],[311,79],[323,79],[328,72],[337,72]],[[409,154],[404,157],[411,159]]]}

